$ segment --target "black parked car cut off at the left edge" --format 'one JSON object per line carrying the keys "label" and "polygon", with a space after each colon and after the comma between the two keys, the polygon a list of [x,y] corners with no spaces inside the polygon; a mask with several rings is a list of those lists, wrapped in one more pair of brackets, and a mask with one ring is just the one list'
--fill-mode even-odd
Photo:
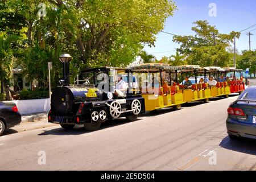
{"label": "black parked car cut off at the left edge", "polygon": [[21,120],[21,115],[14,103],[0,102],[0,136],[6,129],[18,125]]}

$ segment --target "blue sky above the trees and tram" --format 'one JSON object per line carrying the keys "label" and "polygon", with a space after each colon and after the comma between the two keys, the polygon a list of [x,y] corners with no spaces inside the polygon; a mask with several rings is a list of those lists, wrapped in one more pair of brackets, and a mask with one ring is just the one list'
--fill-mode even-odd
{"label": "blue sky above the trees and tram", "polygon": [[[229,34],[231,31],[241,31],[256,24],[255,0],[175,0],[177,10],[165,23],[164,30],[176,35],[194,35],[191,27],[196,20],[207,20],[210,25],[216,26],[221,34]],[[216,5],[216,16],[209,15],[212,10],[211,3]],[[211,11],[212,12],[212,11]],[[256,26],[242,32],[236,47],[239,52],[249,49],[249,36],[245,33],[254,30]],[[251,49],[256,49],[256,30],[251,31]],[[233,46],[233,44],[232,44]],[[144,47],[144,51],[150,53],[159,60],[163,56],[175,54],[178,44],[172,42],[172,35],[159,32],[156,35],[155,47]]]}

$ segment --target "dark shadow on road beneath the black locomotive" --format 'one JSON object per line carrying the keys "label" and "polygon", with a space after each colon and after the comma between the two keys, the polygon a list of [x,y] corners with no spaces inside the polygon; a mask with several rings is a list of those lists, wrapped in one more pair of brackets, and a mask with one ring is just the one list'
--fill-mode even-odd
{"label": "dark shadow on road beneath the black locomotive", "polygon": [[[135,122],[138,122],[139,120],[141,119],[138,119]],[[130,122],[133,122],[133,121],[127,121],[126,118],[109,120],[102,123],[100,129],[98,129],[97,131],[108,129],[109,127],[114,127],[118,125],[125,125],[126,123],[130,123]],[[83,125],[75,126],[72,130],[65,130],[60,126],[60,128],[57,128],[57,129],[44,130],[43,133],[40,133],[38,135],[81,135],[81,134],[92,133],[92,132],[95,132],[95,131],[85,130]]]}

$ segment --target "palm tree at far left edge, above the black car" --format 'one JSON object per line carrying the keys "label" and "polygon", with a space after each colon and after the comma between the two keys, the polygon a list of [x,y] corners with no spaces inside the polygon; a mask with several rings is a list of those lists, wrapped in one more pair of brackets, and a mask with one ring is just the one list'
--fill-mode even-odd
{"label": "palm tree at far left edge, above the black car", "polygon": [[11,100],[9,79],[13,72],[14,49],[12,46],[18,39],[16,35],[0,32],[0,79],[6,92],[6,100]]}

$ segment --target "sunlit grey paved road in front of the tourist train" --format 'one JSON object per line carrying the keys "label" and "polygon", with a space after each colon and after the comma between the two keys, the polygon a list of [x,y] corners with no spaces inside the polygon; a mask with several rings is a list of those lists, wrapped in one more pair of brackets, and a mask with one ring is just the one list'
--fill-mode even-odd
{"label": "sunlit grey paved road in front of the tourist train", "polygon": [[[135,122],[121,118],[93,132],[53,125],[7,134],[0,170],[256,170],[256,142],[226,134],[226,109],[236,98],[162,109]],[[38,163],[39,151],[46,164]]]}

